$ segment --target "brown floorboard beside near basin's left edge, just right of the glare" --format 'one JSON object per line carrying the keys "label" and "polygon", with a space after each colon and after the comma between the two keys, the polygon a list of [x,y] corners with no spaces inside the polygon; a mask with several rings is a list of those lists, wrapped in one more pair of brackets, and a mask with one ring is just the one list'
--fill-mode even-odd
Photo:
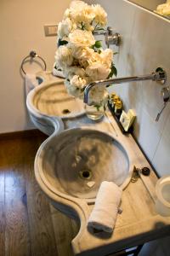
{"label": "brown floorboard beside near basin's left edge, just right of the glare", "polygon": [[31,162],[25,169],[31,255],[57,256],[59,254],[55,243],[48,199],[38,187],[33,170],[33,163]]}

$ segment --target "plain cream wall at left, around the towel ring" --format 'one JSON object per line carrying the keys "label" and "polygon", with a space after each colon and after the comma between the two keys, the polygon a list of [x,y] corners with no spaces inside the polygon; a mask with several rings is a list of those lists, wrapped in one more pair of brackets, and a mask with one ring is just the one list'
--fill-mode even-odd
{"label": "plain cream wall at left, around the towel ring", "polygon": [[[33,127],[25,107],[25,90],[20,63],[31,49],[37,50],[51,69],[56,38],[45,38],[44,24],[62,19],[71,0],[0,1],[0,133]],[[37,70],[32,65],[31,72]]]}

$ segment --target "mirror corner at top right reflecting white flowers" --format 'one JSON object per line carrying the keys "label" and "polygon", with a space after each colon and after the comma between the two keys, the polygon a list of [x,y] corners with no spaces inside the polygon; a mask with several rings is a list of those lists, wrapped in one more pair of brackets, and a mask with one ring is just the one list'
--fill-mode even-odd
{"label": "mirror corner at top right reflecting white flowers", "polygon": [[170,0],[129,0],[145,9],[156,12],[167,19],[170,19]]}

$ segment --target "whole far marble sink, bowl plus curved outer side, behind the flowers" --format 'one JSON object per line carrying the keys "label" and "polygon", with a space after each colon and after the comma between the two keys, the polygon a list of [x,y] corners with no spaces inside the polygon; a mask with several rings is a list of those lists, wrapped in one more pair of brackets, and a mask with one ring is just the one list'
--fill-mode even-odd
{"label": "whole far marble sink, bowl plus curved outer side, behind the flowers", "polygon": [[37,73],[42,83],[26,97],[26,107],[33,124],[47,135],[64,130],[64,119],[75,119],[85,113],[82,100],[70,96],[64,79],[52,77],[51,73]]}

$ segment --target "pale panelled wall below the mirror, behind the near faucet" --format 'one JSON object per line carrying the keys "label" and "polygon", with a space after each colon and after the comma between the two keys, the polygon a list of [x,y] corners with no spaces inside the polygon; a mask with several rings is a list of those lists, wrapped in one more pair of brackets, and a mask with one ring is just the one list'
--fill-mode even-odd
{"label": "pale panelled wall below the mirror, behind the near faucet", "polygon": [[[89,1],[88,1],[89,2]],[[90,1],[91,3],[94,1]],[[122,35],[115,57],[118,77],[146,74],[164,67],[170,85],[170,20],[123,0],[97,0],[108,14],[109,25]],[[170,174],[170,102],[156,123],[162,106],[162,85],[153,81],[114,85],[126,110],[135,109],[134,136],[160,176]]]}

